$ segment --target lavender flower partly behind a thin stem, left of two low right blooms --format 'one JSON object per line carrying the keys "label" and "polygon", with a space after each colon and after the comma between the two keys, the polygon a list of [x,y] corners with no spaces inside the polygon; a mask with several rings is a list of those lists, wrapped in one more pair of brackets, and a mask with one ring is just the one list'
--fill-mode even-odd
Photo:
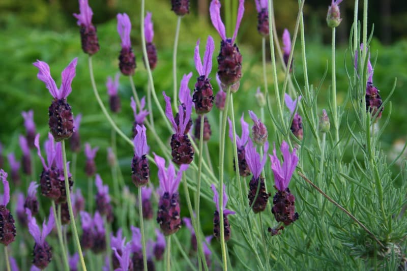
{"label": "lavender flower partly behind a thin stem, left of two low right blooms", "polygon": [[[233,142],[232,122],[229,118],[227,118],[227,120],[229,122],[229,138]],[[236,135],[236,146],[238,148],[239,174],[245,177],[250,174],[250,169],[245,158],[245,145],[247,140],[249,140],[249,125],[244,120],[244,114],[242,114],[242,117],[240,118],[240,123],[242,125],[242,137]],[[233,167],[236,171],[235,159],[233,161]]]}

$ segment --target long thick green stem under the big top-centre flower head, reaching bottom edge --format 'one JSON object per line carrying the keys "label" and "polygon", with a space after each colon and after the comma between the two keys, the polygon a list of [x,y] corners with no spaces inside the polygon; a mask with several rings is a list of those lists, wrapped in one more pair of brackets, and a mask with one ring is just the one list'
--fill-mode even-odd
{"label": "long thick green stem under the big top-centre flower head, reaching bottom edge", "polygon": [[223,270],[227,270],[227,257],[225,245],[225,232],[223,225],[223,175],[224,175],[224,160],[225,160],[225,135],[226,135],[226,120],[227,110],[229,107],[230,86],[227,87],[225,109],[222,118],[222,127],[220,134],[220,161],[219,161],[219,220],[220,220],[220,246],[222,249]]}

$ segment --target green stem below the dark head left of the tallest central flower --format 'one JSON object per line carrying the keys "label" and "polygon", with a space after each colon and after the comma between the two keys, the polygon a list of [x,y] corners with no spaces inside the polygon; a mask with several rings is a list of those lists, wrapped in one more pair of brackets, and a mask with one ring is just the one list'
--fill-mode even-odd
{"label": "green stem below the dark head left of the tallest central flower", "polygon": [[[196,228],[200,225],[199,222],[199,203],[200,203],[200,181],[201,181],[201,175],[202,175],[202,156],[203,156],[203,125],[205,125],[205,115],[200,115],[200,130],[199,130],[199,158],[198,158],[198,183],[196,185],[196,198],[195,198],[195,225]],[[195,230],[195,236],[196,236],[196,243],[198,245],[198,266],[199,270],[201,270],[201,265],[202,261],[205,261],[206,264],[206,259],[205,257],[201,257],[203,255],[202,253],[202,243],[200,240],[200,230],[197,229]]]}

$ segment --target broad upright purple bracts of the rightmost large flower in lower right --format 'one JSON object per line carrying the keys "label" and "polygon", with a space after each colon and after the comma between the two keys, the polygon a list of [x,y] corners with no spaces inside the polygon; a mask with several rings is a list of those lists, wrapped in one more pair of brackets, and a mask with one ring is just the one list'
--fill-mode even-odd
{"label": "broad upright purple bracts of the rightmost large flower in lower right", "polygon": [[287,142],[281,143],[281,153],[283,155],[283,163],[281,166],[280,160],[276,154],[276,144],[274,143],[273,156],[270,156],[271,169],[274,174],[274,182],[278,191],[285,191],[293,176],[294,170],[298,164],[298,156],[296,155],[296,148],[293,152],[289,152],[289,146]]}

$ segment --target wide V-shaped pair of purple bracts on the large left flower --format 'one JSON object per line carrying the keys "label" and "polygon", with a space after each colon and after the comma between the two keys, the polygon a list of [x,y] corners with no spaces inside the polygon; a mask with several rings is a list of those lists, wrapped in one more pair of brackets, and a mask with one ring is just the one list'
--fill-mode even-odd
{"label": "wide V-shaped pair of purple bracts on the large left flower", "polygon": [[62,100],[66,99],[72,91],[71,83],[73,78],[75,77],[77,62],[78,58],[75,57],[73,61],[62,72],[62,84],[59,89],[56,87],[55,81],[51,77],[48,64],[37,60],[37,62],[33,63],[33,65],[38,68],[39,71],[37,77],[45,83],[45,86],[48,88],[51,96],[57,100]]}

